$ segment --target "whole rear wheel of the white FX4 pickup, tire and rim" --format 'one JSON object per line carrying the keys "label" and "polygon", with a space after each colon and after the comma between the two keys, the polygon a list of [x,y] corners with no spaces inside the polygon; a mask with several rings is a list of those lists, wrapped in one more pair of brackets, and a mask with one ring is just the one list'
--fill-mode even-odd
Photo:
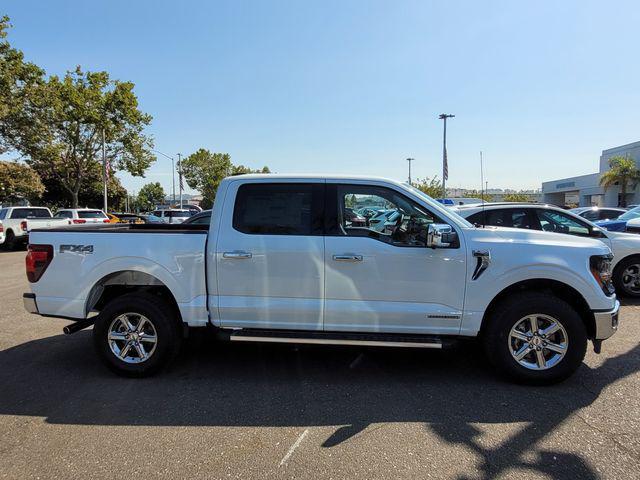
{"label": "whole rear wheel of the white FX4 pickup, tire and rim", "polygon": [[180,340],[174,309],[160,297],[144,293],[111,301],[93,327],[102,361],[128,377],[156,373],[177,355]]}

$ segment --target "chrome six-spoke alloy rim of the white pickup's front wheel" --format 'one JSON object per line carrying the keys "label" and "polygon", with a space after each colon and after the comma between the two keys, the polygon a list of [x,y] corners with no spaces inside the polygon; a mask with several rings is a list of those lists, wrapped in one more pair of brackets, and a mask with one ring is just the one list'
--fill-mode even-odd
{"label": "chrome six-spoke alloy rim of the white pickup's front wheel", "polygon": [[520,365],[529,370],[547,370],[564,358],[569,337],[558,320],[535,313],[516,322],[508,342],[511,356]]}

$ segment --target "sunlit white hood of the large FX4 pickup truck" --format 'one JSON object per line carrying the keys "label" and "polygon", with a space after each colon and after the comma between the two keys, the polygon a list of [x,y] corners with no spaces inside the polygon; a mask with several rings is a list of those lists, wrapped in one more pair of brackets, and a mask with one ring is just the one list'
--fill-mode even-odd
{"label": "sunlit white hood of the large FX4 pickup truck", "polygon": [[540,230],[526,230],[507,227],[476,228],[475,239],[482,242],[513,243],[521,245],[548,245],[562,248],[585,248],[597,253],[609,253],[609,247],[595,238],[585,238],[563,233],[543,232]]}

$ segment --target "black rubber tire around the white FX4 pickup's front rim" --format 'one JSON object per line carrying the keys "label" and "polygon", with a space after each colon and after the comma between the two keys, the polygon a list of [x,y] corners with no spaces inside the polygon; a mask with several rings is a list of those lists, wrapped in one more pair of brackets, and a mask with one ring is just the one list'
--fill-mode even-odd
{"label": "black rubber tire around the white FX4 pickup's front rim", "polygon": [[[564,357],[546,369],[527,368],[511,353],[511,329],[521,319],[533,314],[552,317],[566,332],[567,348]],[[541,318],[544,322],[544,317]],[[564,334],[560,332],[559,335]],[[487,358],[502,375],[518,383],[550,385],[565,380],[580,366],[587,352],[587,331],[580,315],[564,300],[541,292],[523,292],[511,295],[492,309],[491,317],[483,326],[482,342]],[[525,342],[521,342],[523,347],[524,344]],[[541,348],[543,355],[555,355],[554,352]],[[531,353],[527,353],[523,361],[537,362],[536,349],[534,347]]]}

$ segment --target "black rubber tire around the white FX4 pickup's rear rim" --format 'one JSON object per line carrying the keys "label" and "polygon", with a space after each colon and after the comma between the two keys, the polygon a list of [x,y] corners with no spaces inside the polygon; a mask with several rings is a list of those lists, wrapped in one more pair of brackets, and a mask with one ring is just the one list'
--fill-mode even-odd
{"label": "black rubber tire around the white FX4 pickup's rear rim", "polygon": [[[143,315],[155,330],[155,348],[143,343],[144,350],[151,350],[151,354],[148,359],[139,363],[128,363],[118,357],[112,350],[111,342],[108,339],[112,324],[125,313]],[[119,375],[126,377],[153,375],[169,364],[180,350],[182,335],[176,315],[175,308],[156,295],[147,293],[123,295],[109,302],[100,312],[93,327],[94,347],[103,363]],[[132,318],[134,319],[132,322],[135,322],[136,317]],[[115,324],[117,325],[118,322]],[[150,327],[147,326],[148,328]],[[125,349],[126,341],[118,341],[116,346],[119,346],[122,351]],[[132,356],[137,356],[132,348],[129,350],[131,350]],[[125,357],[131,361],[131,356],[125,355]]]}

